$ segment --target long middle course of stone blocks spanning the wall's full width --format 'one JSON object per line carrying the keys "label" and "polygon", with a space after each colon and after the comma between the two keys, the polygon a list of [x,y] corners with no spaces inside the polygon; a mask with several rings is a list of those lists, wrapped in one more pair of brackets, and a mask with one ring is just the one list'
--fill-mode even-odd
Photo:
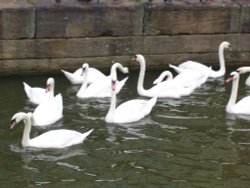
{"label": "long middle course of stone blocks spanning the wall's full width", "polygon": [[105,56],[217,53],[222,41],[249,51],[249,34],[99,37],[0,41],[0,59],[62,59]]}

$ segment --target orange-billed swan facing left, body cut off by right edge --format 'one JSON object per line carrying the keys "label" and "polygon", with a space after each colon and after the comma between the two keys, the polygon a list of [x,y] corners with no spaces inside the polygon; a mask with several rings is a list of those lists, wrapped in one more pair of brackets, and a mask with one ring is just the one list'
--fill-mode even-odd
{"label": "orange-billed swan facing left, body cut off by right edge", "polygon": [[233,81],[231,96],[226,106],[226,111],[233,114],[249,114],[250,115],[250,96],[244,97],[236,103],[238,95],[240,74],[238,72],[232,72],[227,78],[226,82]]}

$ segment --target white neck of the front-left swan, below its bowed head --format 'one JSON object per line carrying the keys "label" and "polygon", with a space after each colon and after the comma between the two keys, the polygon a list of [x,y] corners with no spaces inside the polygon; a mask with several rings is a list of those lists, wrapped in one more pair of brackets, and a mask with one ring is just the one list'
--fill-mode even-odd
{"label": "white neck of the front-left swan, below its bowed head", "polygon": [[24,130],[23,130],[23,137],[22,137],[22,145],[29,146],[30,143],[30,131],[31,131],[31,114],[25,114],[23,117],[24,121]]}

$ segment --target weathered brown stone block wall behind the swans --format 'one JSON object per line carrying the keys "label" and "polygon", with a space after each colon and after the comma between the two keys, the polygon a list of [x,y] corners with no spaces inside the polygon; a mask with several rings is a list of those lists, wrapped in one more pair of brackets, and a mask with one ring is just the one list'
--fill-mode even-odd
{"label": "weathered brown stone block wall behind the swans", "polygon": [[[1,4],[0,4],[1,6]],[[130,68],[136,53],[151,68],[196,60],[218,65],[221,41],[231,43],[226,63],[248,65],[250,7],[164,3],[25,4],[0,9],[0,73],[55,72],[82,63]]]}

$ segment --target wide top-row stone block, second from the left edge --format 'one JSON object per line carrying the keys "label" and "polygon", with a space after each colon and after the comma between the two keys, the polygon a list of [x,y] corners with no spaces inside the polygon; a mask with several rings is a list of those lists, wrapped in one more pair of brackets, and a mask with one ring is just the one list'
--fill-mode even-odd
{"label": "wide top-row stone block, second from the left edge", "polygon": [[141,35],[140,7],[67,7],[37,10],[36,38]]}

